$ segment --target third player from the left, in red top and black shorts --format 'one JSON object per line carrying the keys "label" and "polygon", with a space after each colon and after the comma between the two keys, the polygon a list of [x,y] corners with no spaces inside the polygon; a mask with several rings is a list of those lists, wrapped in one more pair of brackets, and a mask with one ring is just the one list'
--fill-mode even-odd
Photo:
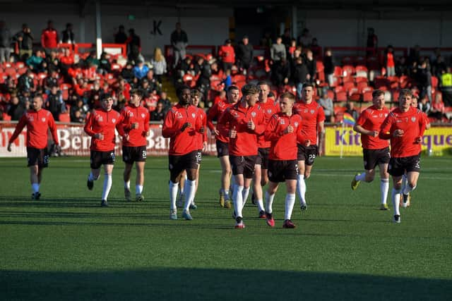
{"label": "third player from the left, in red top and black shorts", "polygon": [[141,202],[143,197],[144,166],[146,163],[146,146],[149,135],[149,111],[141,105],[143,92],[133,90],[129,101],[129,106],[121,111],[122,127],[124,138],[122,141],[122,161],[124,167],[124,197],[126,201],[131,201],[130,176],[133,162],[136,166],[135,200]]}

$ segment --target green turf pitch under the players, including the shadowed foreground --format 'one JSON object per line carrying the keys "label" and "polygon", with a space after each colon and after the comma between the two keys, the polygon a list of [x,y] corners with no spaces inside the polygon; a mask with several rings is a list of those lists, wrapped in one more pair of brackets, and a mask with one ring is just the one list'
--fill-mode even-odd
{"label": "green turf pitch under the players, including the shadowed foreground", "polygon": [[193,221],[168,219],[165,157],[148,159],[140,204],[124,202],[118,161],[109,208],[99,207],[103,177],[85,187],[88,159],[52,159],[38,202],[25,163],[0,159],[1,300],[451,300],[451,157],[422,159],[400,225],[378,210],[378,178],[350,189],[361,158],[323,157],[296,229],[281,228],[283,186],[276,227],[248,202],[242,231],[218,205],[213,157]]}

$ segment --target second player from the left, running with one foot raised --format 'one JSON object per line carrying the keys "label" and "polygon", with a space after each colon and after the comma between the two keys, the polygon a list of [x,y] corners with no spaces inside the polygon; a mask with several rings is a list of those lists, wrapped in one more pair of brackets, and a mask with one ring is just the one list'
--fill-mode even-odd
{"label": "second player from the left, running with one foot raised", "polygon": [[100,166],[104,165],[105,178],[102,190],[101,207],[108,207],[107,197],[112,188],[112,173],[114,166],[114,145],[116,135],[114,129],[118,130],[119,135],[124,137],[122,129],[121,115],[112,109],[113,98],[105,95],[100,102],[100,109],[93,110],[90,116],[86,118],[85,133],[91,137],[91,172],[88,176],[86,185],[89,190],[93,190],[95,180],[100,177]]}

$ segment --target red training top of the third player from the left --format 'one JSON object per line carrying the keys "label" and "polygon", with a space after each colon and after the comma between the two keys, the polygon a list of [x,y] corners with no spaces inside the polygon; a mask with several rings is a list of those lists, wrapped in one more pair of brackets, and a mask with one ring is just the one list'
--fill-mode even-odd
{"label": "red training top of the third player from the left", "polygon": [[[149,111],[143,106],[126,106],[121,111],[124,133],[129,134],[129,140],[122,140],[126,147],[143,147],[148,145],[146,134],[149,130]],[[132,128],[132,123],[138,123],[138,128]]]}

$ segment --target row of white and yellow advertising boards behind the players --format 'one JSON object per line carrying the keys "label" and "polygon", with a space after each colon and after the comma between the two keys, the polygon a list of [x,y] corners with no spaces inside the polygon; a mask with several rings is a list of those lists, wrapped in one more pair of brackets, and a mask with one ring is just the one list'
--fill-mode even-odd
{"label": "row of white and yellow advertising boards behind the players", "polygon": [[[0,123],[0,157],[25,157],[26,128],[13,143],[12,152],[6,150],[9,138],[13,135],[16,122]],[[85,134],[82,124],[57,124],[57,133],[61,151],[68,156],[89,156],[91,137]],[[326,156],[362,156],[360,135],[352,128],[331,125],[326,127],[324,154]],[[162,125],[151,124],[148,136],[148,156],[165,156],[168,154],[169,139],[162,137]],[[433,126],[426,130],[422,142],[422,150],[429,154],[441,156],[452,149],[452,127]],[[121,139],[117,137],[115,147],[117,155],[121,155]],[[204,154],[216,155],[215,137],[208,130],[208,145]]]}

